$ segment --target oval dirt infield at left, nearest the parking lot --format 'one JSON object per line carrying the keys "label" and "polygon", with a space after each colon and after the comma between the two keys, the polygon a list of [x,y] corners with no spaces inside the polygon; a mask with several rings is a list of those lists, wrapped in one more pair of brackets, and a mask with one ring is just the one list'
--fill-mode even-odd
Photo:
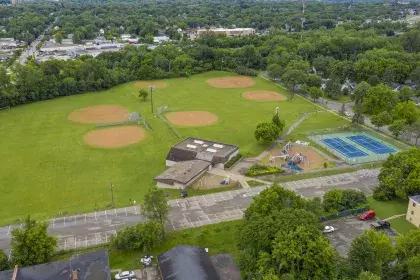
{"label": "oval dirt infield at left, nearest the parking lot", "polygon": [[83,140],[90,146],[119,148],[138,143],[146,137],[146,132],[138,126],[120,126],[89,131]]}

